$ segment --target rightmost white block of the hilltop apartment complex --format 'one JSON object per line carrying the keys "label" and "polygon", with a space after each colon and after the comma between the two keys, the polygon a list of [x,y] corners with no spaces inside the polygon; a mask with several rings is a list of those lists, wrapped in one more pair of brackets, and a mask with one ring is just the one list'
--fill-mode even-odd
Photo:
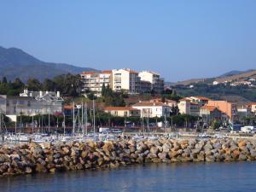
{"label": "rightmost white block of the hilltop apartment complex", "polygon": [[158,93],[161,93],[164,90],[164,79],[160,78],[160,74],[150,71],[143,71],[138,73],[138,76],[142,81],[150,82],[151,90]]}

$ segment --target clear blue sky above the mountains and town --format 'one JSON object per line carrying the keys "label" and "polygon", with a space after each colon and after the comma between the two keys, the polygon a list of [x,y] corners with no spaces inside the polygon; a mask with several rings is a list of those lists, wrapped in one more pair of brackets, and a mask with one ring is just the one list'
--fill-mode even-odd
{"label": "clear blue sky above the mountains and town", "polygon": [[1,0],[0,45],[168,81],[256,68],[255,0]]}

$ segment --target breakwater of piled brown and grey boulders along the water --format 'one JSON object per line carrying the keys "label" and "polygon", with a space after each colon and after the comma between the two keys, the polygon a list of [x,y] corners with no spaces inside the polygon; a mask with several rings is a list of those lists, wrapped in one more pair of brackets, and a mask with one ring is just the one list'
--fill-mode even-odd
{"label": "breakwater of piled brown and grey boulders along the water", "polygon": [[0,146],[0,176],[115,168],[131,164],[256,160],[251,139],[155,141],[121,140],[86,143],[29,143]]}

